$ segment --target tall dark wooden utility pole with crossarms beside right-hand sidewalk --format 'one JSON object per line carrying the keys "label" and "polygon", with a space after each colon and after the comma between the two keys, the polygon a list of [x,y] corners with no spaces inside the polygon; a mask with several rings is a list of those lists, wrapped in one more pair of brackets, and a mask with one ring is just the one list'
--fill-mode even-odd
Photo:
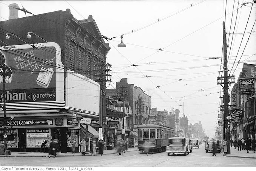
{"label": "tall dark wooden utility pole with crossarms beside right-hand sidewalk", "polygon": [[[225,135],[227,143],[227,154],[230,154],[230,120],[227,120],[227,116],[229,116],[228,108],[229,108],[229,95],[228,95],[228,86],[231,83],[234,83],[234,76],[228,76],[228,65],[227,65],[227,39],[226,39],[226,31],[225,31],[225,21],[222,23],[223,25],[223,69],[224,69],[224,77],[217,77],[217,84],[220,84],[224,90],[224,114],[223,114],[223,137]],[[231,82],[229,82],[231,79]],[[218,80],[224,80],[224,82],[218,82]],[[223,86],[224,85],[224,86]]]}

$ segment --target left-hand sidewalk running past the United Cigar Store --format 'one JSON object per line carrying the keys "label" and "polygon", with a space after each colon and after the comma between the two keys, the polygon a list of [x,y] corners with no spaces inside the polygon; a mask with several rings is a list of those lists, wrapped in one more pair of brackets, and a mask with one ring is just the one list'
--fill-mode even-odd
{"label": "left-hand sidewalk running past the United Cigar Store", "polygon": [[[137,147],[134,148],[128,148],[128,151],[125,151],[125,153],[129,152],[129,151],[138,151]],[[104,150],[103,151],[103,155],[106,154],[115,154],[117,153],[116,149],[113,150]],[[11,152],[11,155],[0,155],[0,157],[46,157],[46,155],[48,155],[48,153],[40,153],[40,152]],[[96,154],[96,156],[98,156],[100,154]],[[72,154],[72,152],[67,152],[67,153],[57,153],[57,157],[69,157],[69,156],[82,156],[81,152],[77,152]],[[91,153],[89,152],[85,152],[85,156],[91,156]]]}

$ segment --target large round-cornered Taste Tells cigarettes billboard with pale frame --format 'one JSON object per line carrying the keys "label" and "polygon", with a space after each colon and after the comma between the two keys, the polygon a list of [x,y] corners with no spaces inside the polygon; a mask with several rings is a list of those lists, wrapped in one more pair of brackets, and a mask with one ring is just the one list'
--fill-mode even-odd
{"label": "large round-cornered Taste Tells cigarettes billboard with pale frame", "polygon": [[[63,65],[58,44],[0,47],[0,89],[5,77],[6,103],[64,101]],[[62,76],[63,75],[63,76]],[[0,103],[3,103],[3,91]]]}

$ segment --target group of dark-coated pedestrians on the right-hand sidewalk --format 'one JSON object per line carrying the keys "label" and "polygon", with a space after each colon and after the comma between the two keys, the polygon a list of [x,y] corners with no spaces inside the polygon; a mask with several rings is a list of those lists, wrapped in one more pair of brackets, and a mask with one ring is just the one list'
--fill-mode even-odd
{"label": "group of dark-coated pedestrians on the right-hand sidewalk", "polygon": [[[232,147],[232,142],[230,141],[230,145]],[[253,137],[252,140],[250,140],[249,138],[247,139],[238,139],[238,141],[236,141],[236,139],[234,140],[233,142],[233,145],[234,145],[234,149],[237,148],[237,150],[239,151],[239,148],[240,148],[240,151],[241,150],[247,150],[247,153],[250,153],[250,150],[253,151],[253,153],[255,153],[255,146],[256,146],[256,140],[255,138]]]}

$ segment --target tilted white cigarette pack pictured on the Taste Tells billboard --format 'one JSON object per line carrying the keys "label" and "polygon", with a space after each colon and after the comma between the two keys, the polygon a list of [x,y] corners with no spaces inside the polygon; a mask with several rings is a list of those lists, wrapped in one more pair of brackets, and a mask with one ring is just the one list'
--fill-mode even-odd
{"label": "tilted white cigarette pack pictured on the Taste Tells billboard", "polygon": [[53,76],[53,69],[52,68],[41,68],[40,73],[37,77],[37,84],[44,87],[44,88],[48,88],[51,79]]}

